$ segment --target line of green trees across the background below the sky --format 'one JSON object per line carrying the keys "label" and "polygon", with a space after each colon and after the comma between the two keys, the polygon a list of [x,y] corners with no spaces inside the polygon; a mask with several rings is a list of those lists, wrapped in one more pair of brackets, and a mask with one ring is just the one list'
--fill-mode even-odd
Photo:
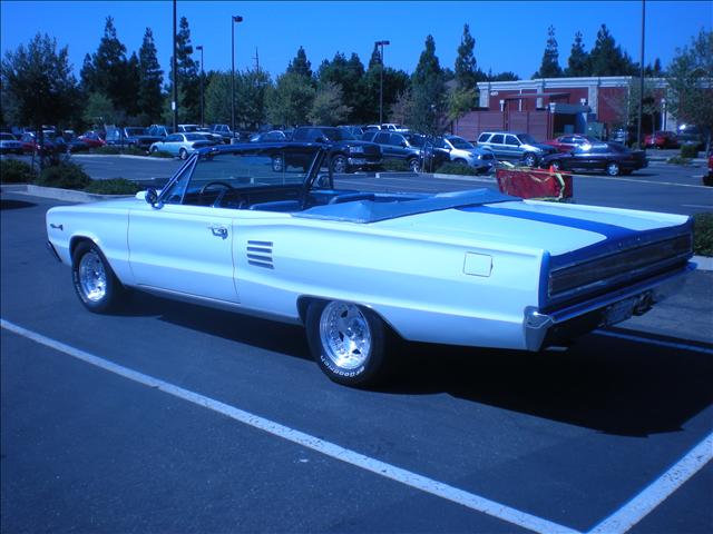
{"label": "line of green trees across the background below the sky", "polygon": [[[701,30],[690,47],[678,51],[677,58],[710,55],[710,41],[711,32]],[[304,48],[300,47],[285,71],[275,79],[258,66],[236,71],[236,123],[255,130],[264,123],[375,122],[379,119],[380,77],[383,76],[384,111],[390,121],[406,123],[423,132],[441,131],[450,121],[477,108],[478,82],[518,80],[512,72],[484,72],[478,67],[475,49],[476,40],[469,26],[463,24],[453,68],[442,67],[436,53],[434,39],[427,36],[417,67],[409,75],[382,65],[377,44],[367,65],[354,52],[348,57],[338,51],[316,69],[313,69]],[[185,17],[178,27],[177,50],[178,121],[199,122],[203,82],[205,122],[231,123],[231,71],[203,72],[194,59],[195,55],[191,53],[191,29]],[[705,60],[701,61],[705,63]],[[681,61],[674,60],[672,66],[677,69],[674,69],[676,76],[683,76],[682,69],[693,63],[687,61],[680,67]],[[710,76],[709,67],[700,68]],[[555,28],[550,26],[541,65],[534,77],[638,76],[638,65],[616,44],[605,24],[602,24],[588,52],[582,32],[576,33],[567,67],[563,69]],[[65,123],[75,128],[102,123],[170,123],[173,72],[167,75],[164,77],[158,62],[150,28],[146,28],[138,51],[128,56],[113,18],[107,17],[97,50],[85,56],[79,80],[68,62],[67,47],[58,49],[55,39],[38,34],[27,47],[21,44],[17,50],[8,51],[2,59],[0,122],[23,126]],[[658,59],[646,67],[646,76],[666,76]],[[692,76],[700,77],[701,72]],[[672,87],[683,95],[691,89],[691,83]],[[697,102],[701,99],[691,95],[670,99],[672,109],[676,108],[678,100]],[[690,106],[682,103],[678,107],[685,113]]]}

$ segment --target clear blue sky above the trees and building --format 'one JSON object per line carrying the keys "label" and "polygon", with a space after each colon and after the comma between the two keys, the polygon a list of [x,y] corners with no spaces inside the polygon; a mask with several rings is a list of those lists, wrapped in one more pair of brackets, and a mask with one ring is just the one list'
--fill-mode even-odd
{"label": "clear blue sky above the trees and building", "polygon": [[[590,50],[605,23],[616,42],[638,60],[642,2],[609,1],[184,1],[178,17],[188,19],[194,47],[205,47],[205,69],[231,68],[231,16],[244,21],[235,27],[235,66],[255,65],[273,78],[284,72],[297,48],[304,47],[312,68],[340,51],[356,52],[365,65],[373,42],[387,39],[388,66],[412,72],[428,34],[436,40],[441,67],[453,67],[463,23],[476,39],[478,66],[494,72],[514,71],[529,78],[540,65],[547,27],[553,24],[559,44],[559,62],[566,67],[577,30]],[[152,28],[158,60],[165,75],[170,57],[173,3],[162,1],[0,1],[0,49],[13,50],[37,32],[55,37],[69,47],[78,73],[85,53],[96,51],[107,16],[115,19],[117,33],[128,53],[141,44],[144,30]],[[713,26],[713,2],[646,2],[645,62],[661,58],[664,67],[676,47],[687,44],[701,28]],[[196,59],[199,59],[196,56]]]}

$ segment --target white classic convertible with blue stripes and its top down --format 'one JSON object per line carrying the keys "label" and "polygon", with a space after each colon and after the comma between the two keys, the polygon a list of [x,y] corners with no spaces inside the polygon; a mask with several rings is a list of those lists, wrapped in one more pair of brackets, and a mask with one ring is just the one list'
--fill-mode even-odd
{"label": "white classic convertible with blue stripes and its top down", "polygon": [[354,386],[383,376],[398,337],[539,350],[645,313],[693,267],[688,217],[340,189],[329,158],[203,149],[160,191],[51,208],[49,246],[91,312],[133,288],[303,324],[322,370]]}

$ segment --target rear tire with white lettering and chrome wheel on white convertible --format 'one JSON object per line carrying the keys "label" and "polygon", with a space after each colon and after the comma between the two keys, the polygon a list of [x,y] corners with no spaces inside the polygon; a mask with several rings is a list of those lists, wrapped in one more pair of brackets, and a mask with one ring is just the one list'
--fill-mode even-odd
{"label": "rear tire with white lettering and chrome wheel on white convertible", "polygon": [[[369,308],[339,300],[314,300],[307,307],[305,327],[312,357],[331,380],[364,387],[385,377],[390,333]],[[338,354],[348,338],[356,348],[348,349],[348,355]]]}

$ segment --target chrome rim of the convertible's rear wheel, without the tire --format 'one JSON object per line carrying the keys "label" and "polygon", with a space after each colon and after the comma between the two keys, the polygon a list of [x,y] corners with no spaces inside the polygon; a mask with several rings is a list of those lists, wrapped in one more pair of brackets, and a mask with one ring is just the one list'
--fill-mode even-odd
{"label": "chrome rim of the convertible's rear wheel, without the tire", "polygon": [[358,306],[332,301],[320,317],[324,355],[340,369],[354,370],[369,359],[372,334]]}

